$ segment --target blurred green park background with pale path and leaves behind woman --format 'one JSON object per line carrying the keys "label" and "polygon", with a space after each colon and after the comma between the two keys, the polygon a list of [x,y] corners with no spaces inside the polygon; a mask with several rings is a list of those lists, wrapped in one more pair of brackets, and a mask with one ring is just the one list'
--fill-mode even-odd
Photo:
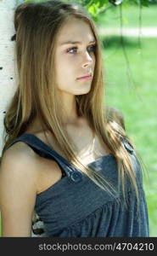
{"label": "blurred green park background with pale path and leaves behind woman", "polygon": [[103,47],[105,101],[123,113],[127,134],[143,160],[150,236],[157,237],[157,1],[69,2],[85,6],[98,26]]}

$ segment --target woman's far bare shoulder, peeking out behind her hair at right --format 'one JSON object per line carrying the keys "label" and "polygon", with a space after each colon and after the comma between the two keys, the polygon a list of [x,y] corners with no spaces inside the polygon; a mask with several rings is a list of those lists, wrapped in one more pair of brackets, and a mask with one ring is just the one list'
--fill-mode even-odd
{"label": "woman's far bare shoulder, peeking out behind her hair at right", "polygon": [[107,119],[109,121],[114,120],[116,123],[121,125],[121,127],[124,130],[126,130],[124,117],[123,117],[123,114],[121,113],[121,111],[119,111],[116,108],[112,108],[112,107],[107,107],[106,111],[107,111]]}

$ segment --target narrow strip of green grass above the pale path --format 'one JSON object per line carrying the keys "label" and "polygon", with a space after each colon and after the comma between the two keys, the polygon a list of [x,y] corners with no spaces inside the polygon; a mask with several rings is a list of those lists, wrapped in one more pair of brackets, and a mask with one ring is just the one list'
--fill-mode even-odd
{"label": "narrow strip of green grass above the pale path", "polygon": [[[149,5],[142,8],[142,26],[157,26],[157,5]],[[139,26],[139,7],[125,6],[122,8],[123,26],[138,27]],[[98,24],[104,27],[119,27],[120,26],[120,8],[113,7],[108,9],[104,14],[99,16]]]}

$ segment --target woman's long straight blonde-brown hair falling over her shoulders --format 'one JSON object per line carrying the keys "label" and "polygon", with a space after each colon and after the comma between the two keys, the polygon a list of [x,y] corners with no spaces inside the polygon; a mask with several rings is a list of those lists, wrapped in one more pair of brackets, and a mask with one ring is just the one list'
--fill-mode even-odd
{"label": "woman's long straight blonde-brown hair falling over her shoulders", "polygon": [[41,120],[42,127],[46,127],[53,135],[64,157],[70,163],[85,172],[101,189],[115,197],[117,195],[116,189],[109,181],[98,172],[94,172],[91,167],[81,164],[74,152],[70,137],[63,129],[62,112],[59,101],[56,100],[53,56],[59,29],[70,16],[87,22],[97,42],[92,87],[86,95],[76,96],[77,114],[87,119],[102,145],[107,145],[115,156],[124,198],[126,199],[125,177],[127,176],[138,199],[136,174],[132,167],[131,156],[121,142],[121,137],[129,142],[123,120],[119,114],[115,114],[117,119],[114,118],[112,109],[105,107],[102,45],[98,38],[97,27],[86,10],[76,3],[61,1],[22,3],[15,9],[15,54],[19,84],[4,118],[6,136],[3,153],[16,137],[20,137],[26,131],[37,116]]}

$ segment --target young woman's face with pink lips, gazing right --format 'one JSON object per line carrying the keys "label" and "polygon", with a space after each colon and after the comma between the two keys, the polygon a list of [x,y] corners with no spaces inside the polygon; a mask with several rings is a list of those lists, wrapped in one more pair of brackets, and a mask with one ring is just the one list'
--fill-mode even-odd
{"label": "young woman's face with pink lips, gazing right", "polygon": [[[95,67],[95,38],[83,20],[71,18],[61,28],[55,51],[56,83],[59,91],[71,95],[87,94]],[[91,74],[88,79],[79,79]]]}

